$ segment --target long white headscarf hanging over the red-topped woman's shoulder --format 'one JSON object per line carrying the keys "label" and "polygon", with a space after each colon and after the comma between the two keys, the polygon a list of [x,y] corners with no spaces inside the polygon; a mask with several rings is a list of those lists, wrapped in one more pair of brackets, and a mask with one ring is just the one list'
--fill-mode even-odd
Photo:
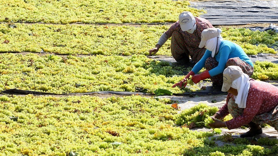
{"label": "long white headscarf hanging over the red-topped woman's shoulder", "polygon": [[243,73],[243,75],[235,79],[231,85],[232,88],[237,89],[237,96],[234,97],[235,97],[235,103],[240,108],[246,107],[246,100],[250,88],[249,79],[250,79],[249,76]]}

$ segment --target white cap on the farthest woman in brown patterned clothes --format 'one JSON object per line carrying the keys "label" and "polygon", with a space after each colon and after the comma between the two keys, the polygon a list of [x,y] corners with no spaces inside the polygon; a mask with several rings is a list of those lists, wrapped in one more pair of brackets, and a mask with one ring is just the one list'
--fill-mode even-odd
{"label": "white cap on the farthest woman in brown patterned clothes", "polygon": [[182,31],[187,31],[193,28],[196,20],[189,11],[184,11],[179,16],[180,28]]}

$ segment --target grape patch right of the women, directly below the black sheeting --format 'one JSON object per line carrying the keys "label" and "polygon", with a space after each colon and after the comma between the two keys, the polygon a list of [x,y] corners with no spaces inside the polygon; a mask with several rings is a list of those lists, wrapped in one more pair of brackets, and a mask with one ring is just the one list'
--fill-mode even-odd
{"label": "grape patch right of the women, directly below the black sheeting", "polygon": [[273,30],[261,32],[247,28],[222,28],[221,35],[225,40],[233,41],[240,45],[248,55],[277,53],[274,49],[269,48],[274,44],[278,44],[278,33]]}

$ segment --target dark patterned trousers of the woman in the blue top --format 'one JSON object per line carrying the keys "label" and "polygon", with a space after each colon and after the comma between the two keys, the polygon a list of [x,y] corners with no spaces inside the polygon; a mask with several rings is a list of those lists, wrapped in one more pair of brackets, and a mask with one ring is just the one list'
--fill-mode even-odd
{"label": "dark patterned trousers of the woman in the blue top", "polygon": [[[247,74],[249,77],[253,74],[254,68],[251,65],[249,65],[248,63],[242,61],[239,57],[234,57],[234,58],[228,59],[225,68],[227,68],[228,66],[231,66],[231,65],[239,66],[242,69],[243,73]],[[218,66],[218,62],[216,61],[215,58],[208,57],[208,59],[206,59],[205,68],[207,70],[211,70],[217,66]],[[213,84],[215,84],[217,86],[222,86],[223,73],[215,75],[215,76],[211,77],[210,79]]]}

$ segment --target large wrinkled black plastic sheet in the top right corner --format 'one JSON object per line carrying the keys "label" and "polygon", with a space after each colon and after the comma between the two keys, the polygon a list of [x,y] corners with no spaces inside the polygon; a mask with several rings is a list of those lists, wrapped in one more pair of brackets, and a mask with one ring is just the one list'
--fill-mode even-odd
{"label": "large wrinkled black plastic sheet in the top right corner", "polygon": [[250,23],[278,23],[276,0],[212,0],[190,2],[190,7],[204,9],[200,17],[212,25],[243,25]]}

